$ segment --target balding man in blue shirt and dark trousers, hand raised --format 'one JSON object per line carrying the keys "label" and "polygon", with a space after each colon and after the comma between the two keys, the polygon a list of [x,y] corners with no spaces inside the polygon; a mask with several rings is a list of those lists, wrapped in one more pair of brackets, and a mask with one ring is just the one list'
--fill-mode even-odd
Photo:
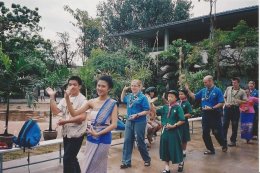
{"label": "balding man in blue shirt and dark trousers, hand raised", "polygon": [[224,97],[222,91],[214,85],[213,77],[208,75],[203,79],[205,88],[194,94],[186,85],[188,94],[192,99],[200,100],[202,107],[202,138],[208,151],[205,155],[215,154],[215,149],[210,137],[210,130],[212,130],[218,143],[222,146],[222,151],[227,151],[227,143],[224,141],[223,129],[221,122],[221,111],[224,104]]}

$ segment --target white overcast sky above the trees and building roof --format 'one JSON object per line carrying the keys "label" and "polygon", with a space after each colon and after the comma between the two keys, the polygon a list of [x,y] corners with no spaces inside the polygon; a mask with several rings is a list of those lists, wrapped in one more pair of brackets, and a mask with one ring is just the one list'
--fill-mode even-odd
{"label": "white overcast sky above the trees and building roof", "polygon": [[[1,0],[0,0],[1,1]],[[42,36],[46,39],[56,40],[57,32],[68,32],[72,39],[77,37],[77,29],[70,21],[73,17],[65,12],[64,5],[70,6],[73,10],[81,9],[88,11],[91,17],[96,16],[96,6],[104,0],[4,0],[5,5],[10,8],[11,3],[27,6],[30,9],[39,8],[42,16],[40,26],[43,27]],[[209,13],[209,3],[204,0],[193,0],[193,17],[207,15]],[[216,11],[227,11],[242,7],[258,5],[258,0],[217,0]]]}

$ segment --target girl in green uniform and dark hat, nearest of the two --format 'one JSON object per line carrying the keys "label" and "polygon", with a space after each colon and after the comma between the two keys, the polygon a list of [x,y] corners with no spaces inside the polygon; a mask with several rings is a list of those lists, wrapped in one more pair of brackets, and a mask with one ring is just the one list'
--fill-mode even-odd
{"label": "girl in green uniform and dark hat, nearest of the two", "polygon": [[159,108],[156,113],[161,115],[162,134],[160,140],[160,159],[164,161],[163,173],[170,173],[169,162],[178,163],[178,172],[183,171],[183,153],[180,126],[185,123],[182,108],[177,103],[178,92],[168,91],[169,104]]}

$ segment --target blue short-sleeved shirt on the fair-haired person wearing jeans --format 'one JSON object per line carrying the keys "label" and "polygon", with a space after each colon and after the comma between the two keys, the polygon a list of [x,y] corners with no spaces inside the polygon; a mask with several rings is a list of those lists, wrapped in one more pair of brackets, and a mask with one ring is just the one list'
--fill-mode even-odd
{"label": "blue short-sleeved shirt on the fair-haired person wearing jeans", "polygon": [[[133,114],[150,110],[150,103],[148,102],[147,97],[141,92],[135,96],[132,93],[126,95],[123,102],[127,105],[127,118],[130,118]],[[132,121],[146,121],[146,116],[140,116]]]}

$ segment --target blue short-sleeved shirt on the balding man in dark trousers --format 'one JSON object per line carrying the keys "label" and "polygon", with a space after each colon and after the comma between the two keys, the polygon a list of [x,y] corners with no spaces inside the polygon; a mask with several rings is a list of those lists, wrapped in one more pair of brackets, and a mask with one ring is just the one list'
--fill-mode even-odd
{"label": "blue short-sleeved shirt on the balding man in dark trousers", "polygon": [[222,91],[214,86],[210,89],[203,88],[198,93],[195,94],[196,100],[201,100],[201,106],[213,107],[218,103],[224,103],[224,97]]}

